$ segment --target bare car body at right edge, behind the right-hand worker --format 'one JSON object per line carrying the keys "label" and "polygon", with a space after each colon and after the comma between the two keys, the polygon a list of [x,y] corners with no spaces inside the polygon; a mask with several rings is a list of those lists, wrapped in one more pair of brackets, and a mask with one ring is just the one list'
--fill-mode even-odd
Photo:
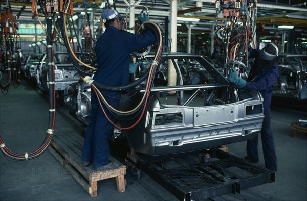
{"label": "bare car body at right edge, behind the right-hand worker", "polygon": [[272,91],[274,98],[307,100],[307,56],[280,53],[277,57],[278,79]]}

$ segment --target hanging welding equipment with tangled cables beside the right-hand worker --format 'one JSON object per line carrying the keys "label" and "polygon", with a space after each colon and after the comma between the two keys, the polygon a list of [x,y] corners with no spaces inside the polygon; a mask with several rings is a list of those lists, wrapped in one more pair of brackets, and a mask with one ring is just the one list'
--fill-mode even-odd
{"label": "hanging welding equipment with tangled cables beside the right-hand worker", "polygon": [[225,76],[233,67],[239,74],[250,68],[247,49],[256,47],[256,3],[243,0],[215,3],[216,16],[222,18],[221,24],[217,24],[216,39],[223,49]]}

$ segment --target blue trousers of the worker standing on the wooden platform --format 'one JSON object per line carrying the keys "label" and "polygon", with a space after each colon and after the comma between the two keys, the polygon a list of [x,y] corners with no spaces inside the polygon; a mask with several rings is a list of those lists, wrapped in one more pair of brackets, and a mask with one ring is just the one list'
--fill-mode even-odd
{"label": "blue trousers of the worker standing on the wooden platform", "polygon": [[[112,107],[118,108],[119,99],[107,98]],[[105,117],[98,103],[97,97],[92,89],[92,110],[90,123],[87,126],[82,150],[82,161],[93,161],[93,167],[100,167],[109,163],[110,156],[108,139],[113,132],[113,125]],[[103,103],[102,103],[103,105]],[[114,121],[115,117],[103,105],[108,117]]]}

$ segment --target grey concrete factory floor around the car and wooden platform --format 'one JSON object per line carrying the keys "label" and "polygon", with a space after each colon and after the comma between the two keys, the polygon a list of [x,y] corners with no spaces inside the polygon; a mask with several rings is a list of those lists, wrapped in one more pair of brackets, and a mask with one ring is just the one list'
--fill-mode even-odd
{"label": "grey concrete factory floor around the car and wooden platform", "polygon": [[[67,107],[58,104],[55,135],[75,131]],[[33,152],[46,135],[49,120],[48,98],[22,81],[0,94],[0,134],[6,146],[16,153]],[[278,172],[275,182],[224,194],[206,200],[307,200],[307,135],[292,138],[292,121],[307,119],[307,113],[272,107],[271,127],[275,138]],[[78,123],[75,121],[75,123]],[[78,132],[78,131],[76,131]],[[81,132],[81,131],[79,131]],[[246,142],[227,145],[229,153],[245,157]],[[264,166],[261,143],[260,162]],[[177,200],[148,175],[139,180],[125,175],[126,192],[118,193],[115,179],[98,182],[98,195],[90,197],[81,185],[47,150],[40,157],[16,162],[0,154],[0,200]]]}

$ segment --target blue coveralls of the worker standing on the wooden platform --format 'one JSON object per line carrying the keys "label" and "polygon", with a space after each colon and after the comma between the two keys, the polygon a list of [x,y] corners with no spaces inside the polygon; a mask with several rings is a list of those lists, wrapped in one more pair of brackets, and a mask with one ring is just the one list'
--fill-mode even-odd
{"label": "blue coveralls of the worker standing on the wooden platform", "polygon": [[[133,34],[113,26],[107,27],[95,46],[98,69],[94,80],[108,86],[128,84],[131,52],[150,46],[155,41],[155,35],[150,30],[142,34]],[[102,93],[111,106],[118,108],[120,93],[112,91],[102,91]],[[113,125],[102,112],[93,89],[91,104],[90,123],[85,133],[82,161],[93,161],[93,167],[100,167],[109,163],[108,139],[113,132]],[[103,107],[108,117],[114,121],[115,117],[105,106]]]}

